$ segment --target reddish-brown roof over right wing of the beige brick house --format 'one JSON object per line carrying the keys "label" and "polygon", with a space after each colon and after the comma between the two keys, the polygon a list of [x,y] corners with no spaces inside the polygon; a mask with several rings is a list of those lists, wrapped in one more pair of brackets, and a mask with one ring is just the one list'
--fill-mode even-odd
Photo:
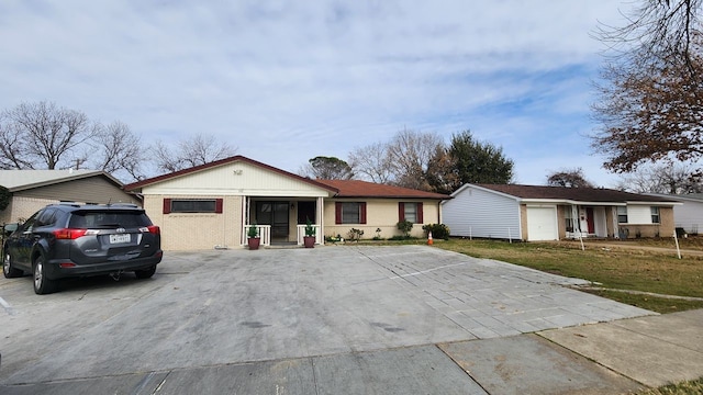
{"label": "reddish-brown roof over right wing of the beige brick house", "polygon": [[335,198],[382,198],[382,199],[433,199],[446,200],[450,196],[419,191],[410,188],[379,184],[360,180],[317,180],[339,192]]}

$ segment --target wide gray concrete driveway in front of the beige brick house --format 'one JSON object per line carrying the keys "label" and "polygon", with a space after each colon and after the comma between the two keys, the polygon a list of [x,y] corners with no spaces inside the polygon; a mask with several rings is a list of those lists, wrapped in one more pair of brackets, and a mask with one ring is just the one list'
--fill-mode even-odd
{"label": "wide gray concrete driveway in front of the beige brick house", "polygon": [[[486,394],[464,342],[651,314],[579,283],[424,246],[168,252],[45,296],[1,279],[0,392]],[[555,352],[527,339],[500,347]]]}

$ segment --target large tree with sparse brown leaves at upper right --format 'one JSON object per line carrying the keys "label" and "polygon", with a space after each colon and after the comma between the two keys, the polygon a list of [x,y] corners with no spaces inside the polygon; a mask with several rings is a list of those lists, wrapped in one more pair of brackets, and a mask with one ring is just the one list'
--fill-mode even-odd
{"label": "large tree with sparse brown leaves at upper right", "polygon": [[598,36],[615,56],[603,67],[593,105],[602,128],[593,148],[605,167],[703,156],[703,0],[646,0],[623,27]]}

